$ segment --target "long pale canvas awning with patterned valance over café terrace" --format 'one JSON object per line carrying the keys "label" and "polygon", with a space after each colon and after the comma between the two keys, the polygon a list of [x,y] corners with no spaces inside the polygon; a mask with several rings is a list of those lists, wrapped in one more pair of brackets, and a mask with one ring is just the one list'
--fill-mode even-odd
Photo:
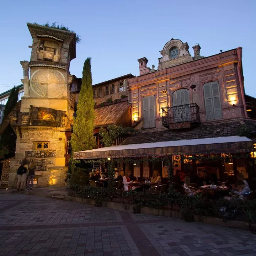
{"label": "long pale canvas awning with patterned valance over caf\u00e9 terrace", "polygon": [[218,138],[175,140],[110,146],[74,153],[75,159],[157,157],[186,154],[246,153],[254,149],[247,137],[230,136]]}

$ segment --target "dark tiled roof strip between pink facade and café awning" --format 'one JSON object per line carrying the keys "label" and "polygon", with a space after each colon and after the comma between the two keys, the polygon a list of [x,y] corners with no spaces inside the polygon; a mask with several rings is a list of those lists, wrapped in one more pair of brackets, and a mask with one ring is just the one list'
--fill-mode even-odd
{"label": "dark tiled roof strip between pink facade and caf\u00e9 awning", "polygon": [[238,135],[238,128],[241,121],[247,125],[251,131],[256,133],[256,120],[244,119],[230,122],[219,122],[210,124],[201,124],[200,126],[180,130],[167,129],[151,129],[142,130],[135,133],[124,140],[121,145],[150,143],[150,142],[164,142],[171,140],[188,140],[201,138],[214,138]]}

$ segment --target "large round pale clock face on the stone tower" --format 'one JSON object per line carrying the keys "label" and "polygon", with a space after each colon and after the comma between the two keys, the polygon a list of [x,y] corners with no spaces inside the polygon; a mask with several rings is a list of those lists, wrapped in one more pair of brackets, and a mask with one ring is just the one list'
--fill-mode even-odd
{"label": "large round pale clock face on the stone tower", "polygon": [[64,92],[65,77],[56,69],[38,69],[32,74],[30,80],[32,91],[40,97],[57,98]]}

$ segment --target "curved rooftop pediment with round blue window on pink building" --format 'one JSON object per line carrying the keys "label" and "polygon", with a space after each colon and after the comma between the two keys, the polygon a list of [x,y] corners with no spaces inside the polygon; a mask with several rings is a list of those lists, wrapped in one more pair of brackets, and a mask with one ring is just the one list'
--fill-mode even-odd
{"label": "curved rooftop pediment with round blue window on pink building", "polygon": [[171,39],[160,51],[162,58],[159,58],[158,69],[168,68],[192,60],[188,48],[187,43],[183,43],[179,39]]}

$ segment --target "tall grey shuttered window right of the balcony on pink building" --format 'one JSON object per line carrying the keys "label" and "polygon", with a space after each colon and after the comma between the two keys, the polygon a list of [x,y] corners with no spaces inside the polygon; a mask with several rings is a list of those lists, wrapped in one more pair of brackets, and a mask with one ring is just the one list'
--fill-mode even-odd
{"label": "tall grey shuttered window right of the balcony on pink building", "polygon": [[219,82],[208,82],[203,85],[204,102],[206,108],[206,120],[222,118],[222,106],[220,103]]}

